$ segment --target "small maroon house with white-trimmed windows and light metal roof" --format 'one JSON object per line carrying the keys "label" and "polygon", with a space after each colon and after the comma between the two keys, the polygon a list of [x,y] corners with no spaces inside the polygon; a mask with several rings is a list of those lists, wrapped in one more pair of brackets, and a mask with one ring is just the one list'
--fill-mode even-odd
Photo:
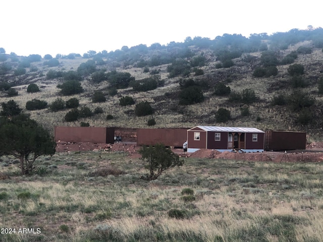
{"label": "small maroon house with white-trimmed windows and light metal roof", "polygon": [[214,149],[221,152],[262,152],[264,131],[256,128],[196,126],[187,130],[188,152]]}

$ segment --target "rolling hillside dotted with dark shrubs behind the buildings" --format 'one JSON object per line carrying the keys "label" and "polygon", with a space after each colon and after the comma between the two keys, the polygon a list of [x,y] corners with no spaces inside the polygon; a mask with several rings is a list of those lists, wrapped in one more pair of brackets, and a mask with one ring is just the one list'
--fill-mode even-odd
{"label": "rolling hillside dotted with dark shrubs behind the buildings", "polygon": [[[57,59],[59,64],[53,67],[48,65],[51,58],[30,61],[32,56],[3,53],[0,103],[15,100],[23,112],[30,113],[31,118],[50,131],[54,126],[80,126],[80,122],[98,127],[148,128],[147,120],[154,118],[154,128],[196,125],[256,127],[261,130],[306,131],[309,141],[317,141],[322,135],[323,125],[323,98],[319,91],[323,77],[322,39],[321,29],[291,30],[249,38],[241,35],[224,35],[214,40],[196,37],[187,38],[183,43],[171,42],[167,46],[156,43],[147,47],[142,44],[131,48],[124,46],[109,53],[89,51],[83,56],[73,53],[58,55],[53,59]],[[293,58],[289,58],[291,56]],[[21,64],[28,61],[30,66],[22,67]],[[87,65],[93,67],[93,63],[94,70],[85,72]],[[293,65],[303,67],[303,73],[291,74]],[[21,69],[25,73],[19,75],[17,70]],[[261,75],[256,70],[264,71],[264,75],[259,77]],[[268,73],[268,70],[274,70],[274,73]],[[49,78],[48,72],[62,75]],[[105,76],[99,81],[94,80],[94,75],[99,72]],[[82,93],[65,96],[60,93],[57,86],[68,80],[67,73],[80,75]],[[113,73],[129,73],[135,81],[141,80],[138,85],[145,85],[151,79],[157,80],[158,85],[153,90],[134,91],[135,81],[132,79],[127,88],[117,88],[117,94],[111,95]],[[230,87],[231,93],[214,94],[219,83]],[[8,89],[4,88],[6,84],[18,91],[18,95],[8,96]],[[36,84],[40,91],[28,93],[30,84]],[[196,92],[201,90],[203,99],[190,105],[180,105],[180,97],[184,95],[181,93],[189,86],[193,86],[192,90]],[[244,100],[246,89],[254,91],[255,98]],[[93,103],[95,91],[102,91],[106,101]],[[194,92],[188,95],[193,97]],[[135,104],[121,106],[120,98],[124,96],[132,97]],[[301,96],[309,98],[312,103],[301,99]],[[278,97],[283,101],[273,103],[275,98],[280,100]],[[103,113],[66,122],[64,117],[71,109],[53,112],[48,108],[57,98],[64,101],[77,98],[79,109],[87,106],[94,111],[101,107]],[[48,106],[27,110],[26,103],[32,99],[44,100]],[[135,115],[135,106],[141,101],[149,102],[154,113]],[[230,111],[229,120],[219,122],[219,108]],[[113,118],[106,119],[107,114]]]}

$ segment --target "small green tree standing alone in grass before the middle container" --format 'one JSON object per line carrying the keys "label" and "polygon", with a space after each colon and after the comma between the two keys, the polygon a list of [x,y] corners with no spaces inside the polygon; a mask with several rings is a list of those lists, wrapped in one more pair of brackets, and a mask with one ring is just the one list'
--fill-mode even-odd
{"label": "small green tree standing alone in grass before the middle container", "polygon": [[149,171],[147,175],[140,176],[144,180],[155,180],[163,171],[184,164],[184,160],[163,144],[143,146],[139,153],[145,163],[145,168]]}

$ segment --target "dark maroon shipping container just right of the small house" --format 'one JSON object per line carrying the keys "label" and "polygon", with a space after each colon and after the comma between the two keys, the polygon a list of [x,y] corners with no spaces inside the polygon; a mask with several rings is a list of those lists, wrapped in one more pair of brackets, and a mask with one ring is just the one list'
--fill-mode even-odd
{"label": "dark maroon shipping container just right of the small house", "polygon": [[265,148],[268,150],[304,150],[305,132],[266,131]]}

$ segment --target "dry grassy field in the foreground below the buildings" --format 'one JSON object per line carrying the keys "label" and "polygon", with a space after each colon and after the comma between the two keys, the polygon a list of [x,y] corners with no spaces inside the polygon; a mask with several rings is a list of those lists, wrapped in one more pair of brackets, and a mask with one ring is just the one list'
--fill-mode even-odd
{"label": "dry grassy field in the foreground below the buildings", "polygon": [[323,241],[320,163],[188,158],[151,182],[123,153],[56,154],[25,177],[12,163],[0,241]]}

